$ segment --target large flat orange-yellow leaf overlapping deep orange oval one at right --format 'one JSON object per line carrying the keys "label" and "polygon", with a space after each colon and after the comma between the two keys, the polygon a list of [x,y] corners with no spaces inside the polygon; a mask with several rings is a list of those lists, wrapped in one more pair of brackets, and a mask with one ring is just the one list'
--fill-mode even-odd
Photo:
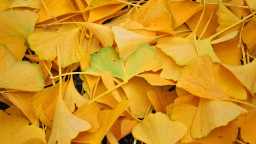
{"label": "large flat orange-yellow leaf overlapping deep orange oval one at right", "polygon": [[231,100],[218,84],[213,61],[209,55],[198,57],[195,63],[184,67],[177,87],[201,98]]}

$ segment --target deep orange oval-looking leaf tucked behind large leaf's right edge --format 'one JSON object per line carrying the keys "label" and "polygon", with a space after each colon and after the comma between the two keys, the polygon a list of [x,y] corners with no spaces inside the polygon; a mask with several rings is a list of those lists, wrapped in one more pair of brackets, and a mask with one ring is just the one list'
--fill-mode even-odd
{"label": "deep orange oval-looking leaf tucked behind large leaf's right edge", "polygon": [[[217,65],[214,67],[216,78],[222,91],[231,98],[246,100],[247,92],[241,82],[225,67]],[[231,91],[230,91],[231,90]]]}

